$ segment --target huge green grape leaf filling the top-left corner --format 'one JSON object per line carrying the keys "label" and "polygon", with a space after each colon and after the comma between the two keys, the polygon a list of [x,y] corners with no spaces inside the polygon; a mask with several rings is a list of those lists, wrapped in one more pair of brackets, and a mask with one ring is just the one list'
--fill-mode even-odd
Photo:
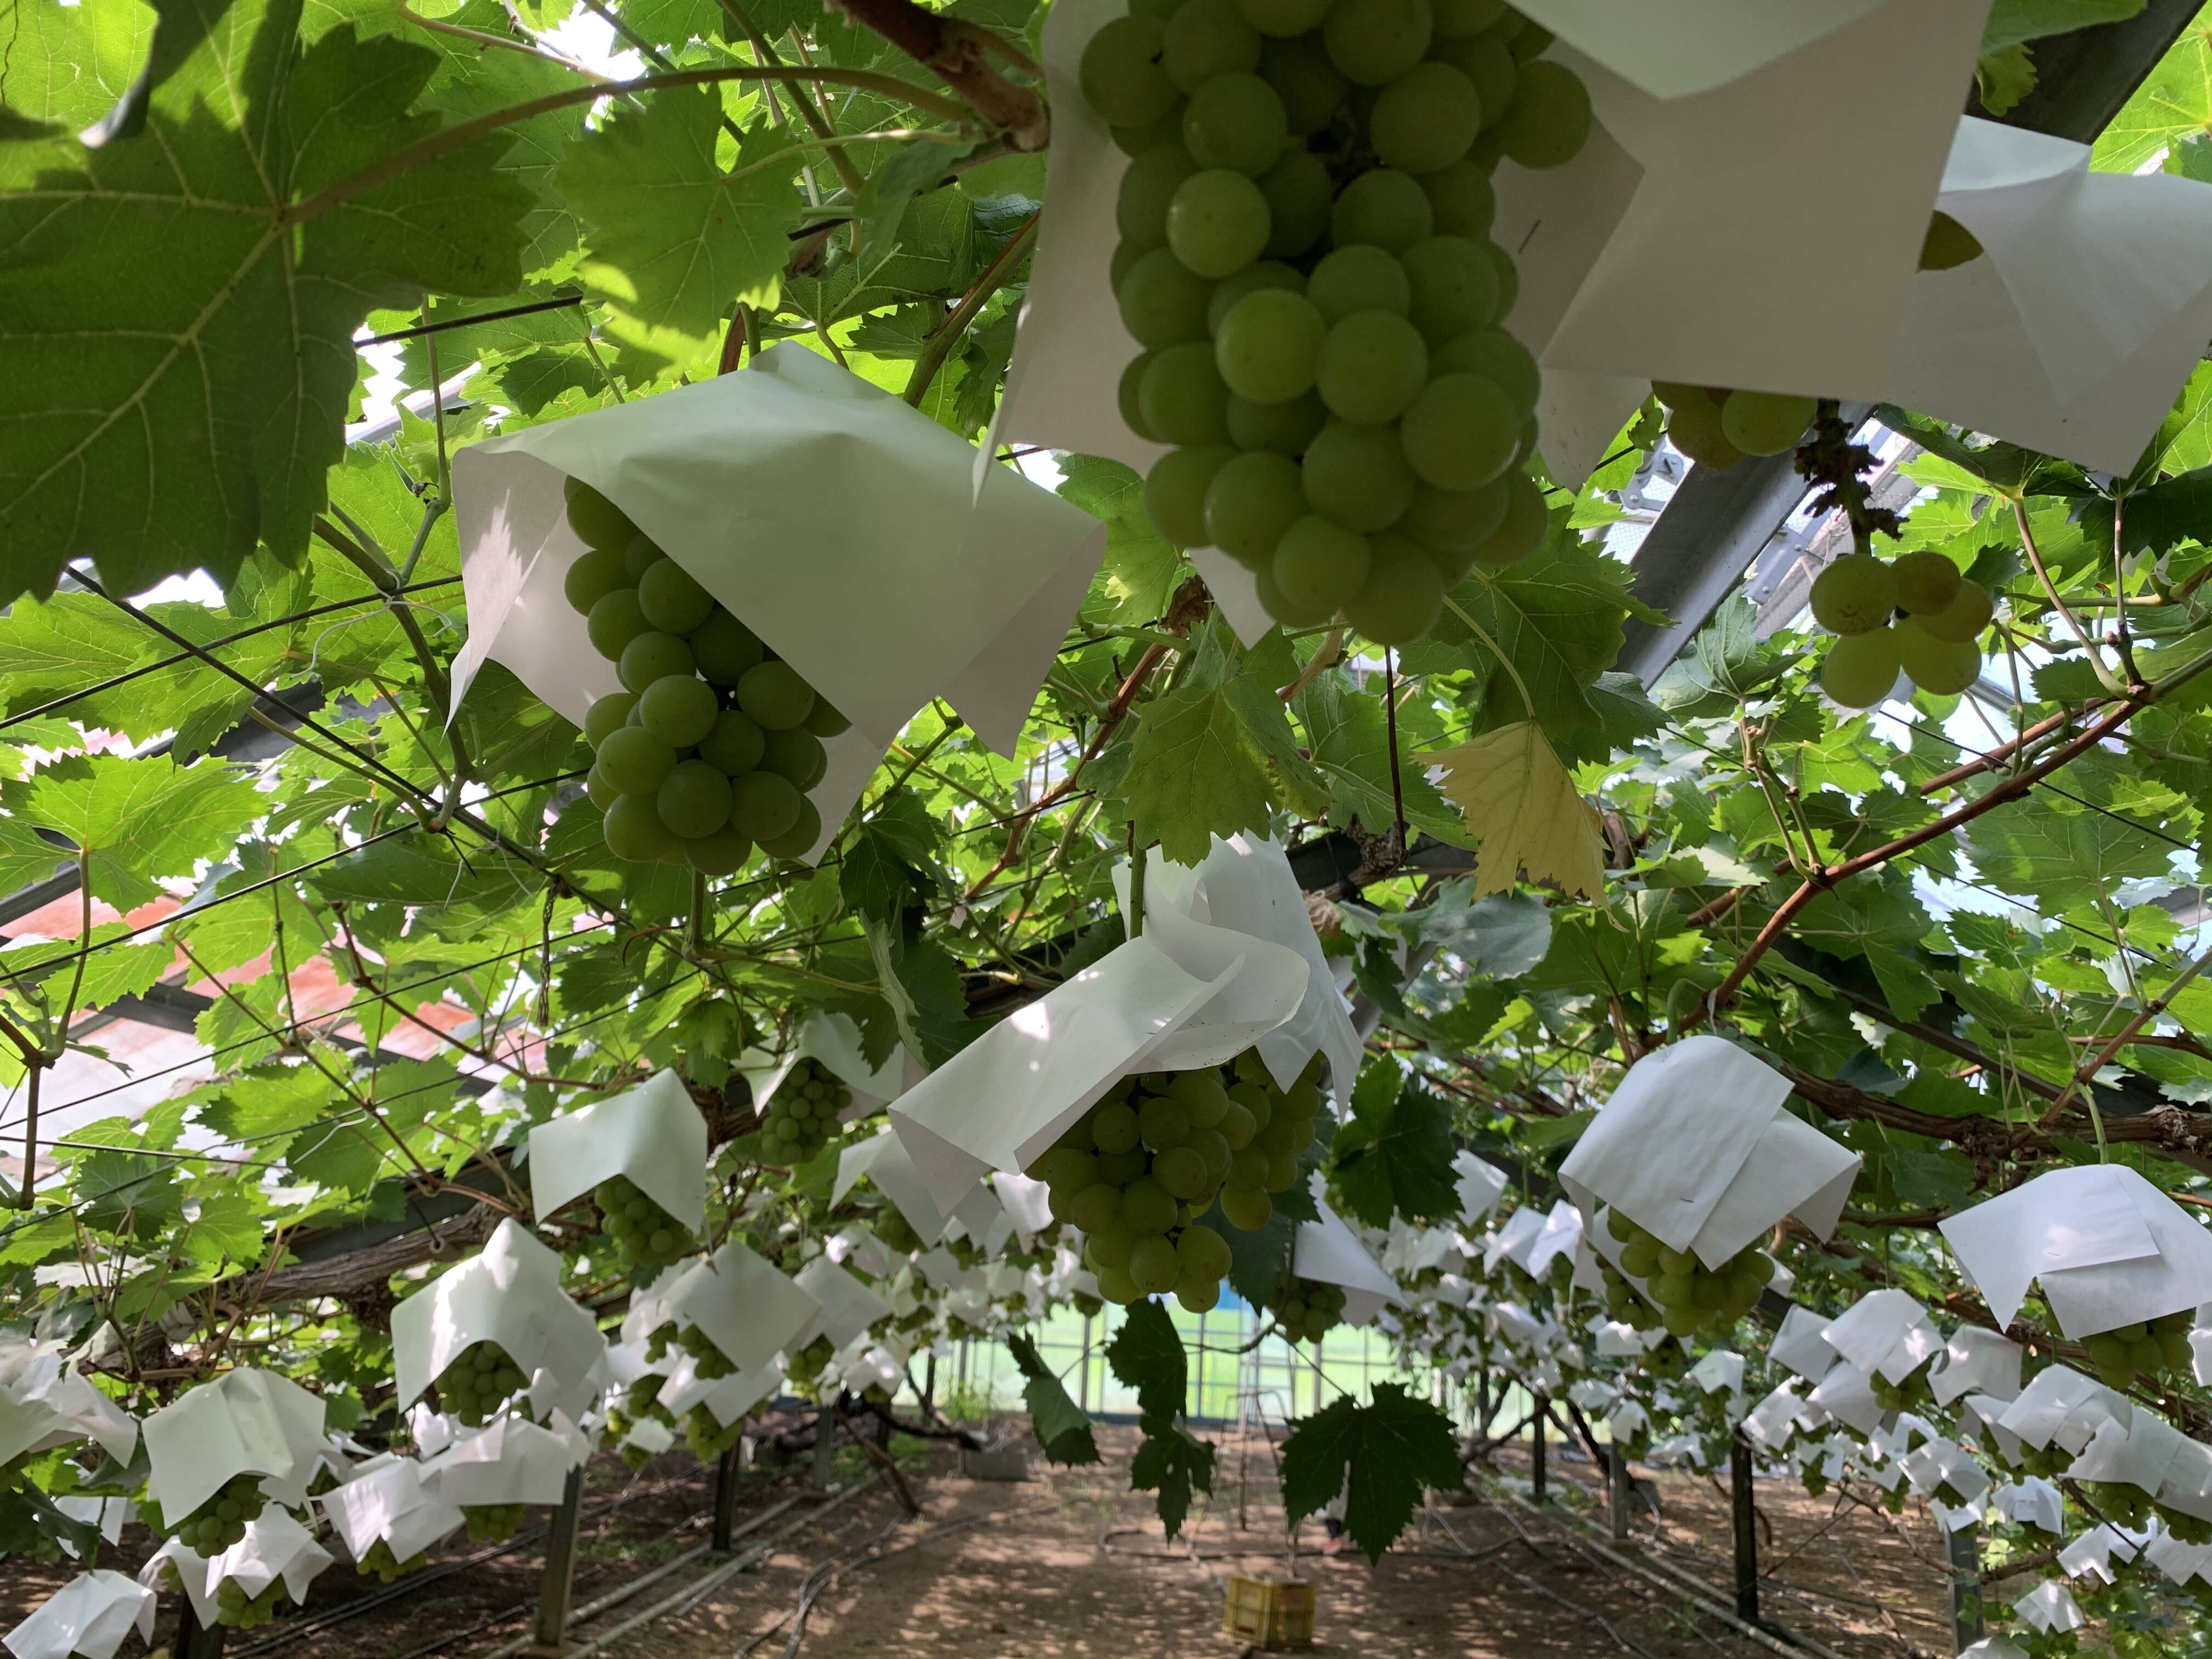
{"label": "huge green grape leaf filling the top-left corner", "polygon": [[440,126],[409,113],[438,55],[352,27],[303,49],[299,13],[173,0],[142,131],[0,144],[0,602],[80,553],[122,593],[230,577],[257,540],[296,557],[369,310],[522,281],[504,135],[323,197]]}

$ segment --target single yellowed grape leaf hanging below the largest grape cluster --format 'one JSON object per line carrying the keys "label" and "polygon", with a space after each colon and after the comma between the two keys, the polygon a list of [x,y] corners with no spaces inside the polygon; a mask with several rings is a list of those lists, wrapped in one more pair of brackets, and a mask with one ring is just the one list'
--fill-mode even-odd
{"label": "single yellowed grape leaf hanging below the largest grape cluster", "polygon": [[1467,814],[1469,832],[1482,843],[1475,898],[1504,891],[1520,869],[1528,872],[1528,880],[1548,878],[1584,898],[1604,896],[1597,812],[1575,792],[1575,781],[1533,721],[1500,726],[1420,759],[1444,768],[1438,787]]}

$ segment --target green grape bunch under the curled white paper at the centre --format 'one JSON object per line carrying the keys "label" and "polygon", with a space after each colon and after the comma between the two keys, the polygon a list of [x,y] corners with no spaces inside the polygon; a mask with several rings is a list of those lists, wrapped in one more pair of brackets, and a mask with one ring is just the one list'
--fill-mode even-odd
{"label": "green grape bunch under the curled white paper at the centre", "polygon": [[1279,1091],[1254,1051],[1228,1066],[1124,1077],[1029,1170],[1053,1219],[1084,1232],[1084,1263],[1117,1305],[1175,1292],[1194,1314],[1221,1301],[1230,1245],[1199,1221],[1267,1225],[1270,1192],[1298,1181],[1314,1139],[1321,1060]]}

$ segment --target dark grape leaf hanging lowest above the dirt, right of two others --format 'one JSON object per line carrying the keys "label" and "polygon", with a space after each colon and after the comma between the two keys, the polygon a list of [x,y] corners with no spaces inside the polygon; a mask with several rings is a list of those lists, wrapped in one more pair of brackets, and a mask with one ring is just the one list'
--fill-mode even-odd
{"label": "dark grape leaf hanging lowest above the dirt, right of two others", "polygon": [[1460,1491],[1460,1442],[1451,1418],[1398,1383],[1376,1383],[1374,1402],[1349,1394],[1301,1418],[1283,1442],[1283,1509],[1292,1522],[1345,1493],[1345,1535],[1380,1562],[1422,1491]]}

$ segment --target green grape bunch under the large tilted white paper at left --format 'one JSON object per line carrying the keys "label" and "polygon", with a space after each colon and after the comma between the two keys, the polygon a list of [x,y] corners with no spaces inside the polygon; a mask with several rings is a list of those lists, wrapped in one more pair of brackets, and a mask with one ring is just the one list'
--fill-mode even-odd
{"label": "green grape bunch under the large tilted white paper at left", "polygon": [[575,478],[566,500],[588,551],[564,591],[622,679],[584,717],[608,852],[706,876],[754,847],[799,858],[821,838],[823,739],[849,721],[615,502]]}

